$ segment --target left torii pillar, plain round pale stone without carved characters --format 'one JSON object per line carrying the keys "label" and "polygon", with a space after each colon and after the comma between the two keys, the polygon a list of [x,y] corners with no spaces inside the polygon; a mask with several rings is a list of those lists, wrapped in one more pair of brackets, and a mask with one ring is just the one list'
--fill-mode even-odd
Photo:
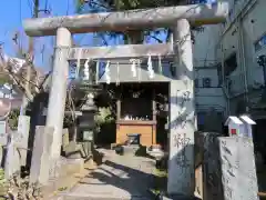
{"label": "left torii pillar, plain round pale stone without carved characters", "polygon": [[71,32],[65,28],[57,29],[54,48],[52,87],[49,94],[47,126],[54,128],[51,159],[57,160],[61,154],[63,119],[69,77],[68,49],[71,48]]}

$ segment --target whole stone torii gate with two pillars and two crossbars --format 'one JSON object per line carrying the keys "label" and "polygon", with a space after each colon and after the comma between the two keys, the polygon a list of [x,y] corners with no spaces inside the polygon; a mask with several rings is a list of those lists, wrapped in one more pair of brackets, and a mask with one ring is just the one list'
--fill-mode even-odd
{"label": "whole stone torii gate with two pillars and two crossbars", "polygon": [[[27,19],[30,37],[57,36],[47,126],[54,128],[51,156],[60,156],[69,60],[174,56],[176,77],[170,82],[168,193],[194,192],[194,71],[190,23],[224,22],[228,4],[191,4],[81,16]],[[174,42],[119,47],[71,48],[71,34],[171,27]]]}

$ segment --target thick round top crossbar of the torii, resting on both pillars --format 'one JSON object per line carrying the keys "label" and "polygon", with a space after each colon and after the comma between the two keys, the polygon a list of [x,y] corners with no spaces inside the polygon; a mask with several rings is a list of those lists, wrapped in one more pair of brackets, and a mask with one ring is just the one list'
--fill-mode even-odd
{"label": "thick round top crossbar of the torii, resting on both pillars", "polygon": [[72,33],[146,30],[149,28],[170,27],[178,19],[187,19],[196,24],[219,23],[225,21],[227,12],[227,3],[217,3],[215,6],[203,3],[124,12],[27,19],[23,27],[27,34],[31,37],[55,34],[60,27],[69,29]]}

